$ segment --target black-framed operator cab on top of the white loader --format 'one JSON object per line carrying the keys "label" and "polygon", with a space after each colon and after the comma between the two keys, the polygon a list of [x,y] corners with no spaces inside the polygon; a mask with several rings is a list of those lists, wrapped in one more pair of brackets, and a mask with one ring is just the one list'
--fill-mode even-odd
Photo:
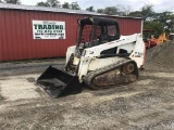
{"label": "black-framed operator cab on top of the white loader", "polygon": [[119,24],[114,20],[87,17],[78,20],[77,50],[83,50],[120,39]]}

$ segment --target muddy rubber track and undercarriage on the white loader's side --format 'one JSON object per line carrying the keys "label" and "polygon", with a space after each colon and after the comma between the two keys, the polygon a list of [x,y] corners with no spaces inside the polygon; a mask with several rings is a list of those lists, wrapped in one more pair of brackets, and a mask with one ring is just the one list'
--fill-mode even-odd
{"label": "muddy rubber track and undercarriage on the white loader's side", "polygon": [[128,60],[88,73],[84,82],[91,89],[104,89],[130,83],[137,78],[138,67],[134,61]]}

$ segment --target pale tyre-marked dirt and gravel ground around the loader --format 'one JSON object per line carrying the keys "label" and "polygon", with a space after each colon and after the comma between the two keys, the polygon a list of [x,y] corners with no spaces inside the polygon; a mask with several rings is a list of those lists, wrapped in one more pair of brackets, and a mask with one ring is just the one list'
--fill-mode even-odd
{"label": "pale tyre-marked dirt and gravel ground around the loader", "polygon": [[147,67],[132,84],[51,99],[35,84],[46,66],[27,74],[27,66],[5,66],[0,76],[1,130],[174,130],[173,69]]}

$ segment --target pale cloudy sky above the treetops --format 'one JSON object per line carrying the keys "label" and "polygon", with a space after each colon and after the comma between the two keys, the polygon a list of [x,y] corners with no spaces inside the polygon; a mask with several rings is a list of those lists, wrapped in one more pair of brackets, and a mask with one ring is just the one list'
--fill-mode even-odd
{"label": "pale cloudy sky above the treetops", "polygon": [[[37,2],[47,0],[21,0],[22,4],[36,5]],[[77,1],[82,10],[92,5],[95,9],[104,9],[105,6],[125,6],[130,11],[139,11],[145,4],[152,4],[157,13],[164,11],[174,12],[174,0],[59,0],[64,2]]]}

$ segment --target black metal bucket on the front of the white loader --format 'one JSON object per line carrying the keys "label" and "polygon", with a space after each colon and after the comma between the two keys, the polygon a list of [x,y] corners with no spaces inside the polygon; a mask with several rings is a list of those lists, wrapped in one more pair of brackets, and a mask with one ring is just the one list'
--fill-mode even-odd
{"label": "black metal bucket on the front of the white loader", "polygon": [[49,66],[36,81],[52,98],[61,98],[82,92],[77,76]]}

